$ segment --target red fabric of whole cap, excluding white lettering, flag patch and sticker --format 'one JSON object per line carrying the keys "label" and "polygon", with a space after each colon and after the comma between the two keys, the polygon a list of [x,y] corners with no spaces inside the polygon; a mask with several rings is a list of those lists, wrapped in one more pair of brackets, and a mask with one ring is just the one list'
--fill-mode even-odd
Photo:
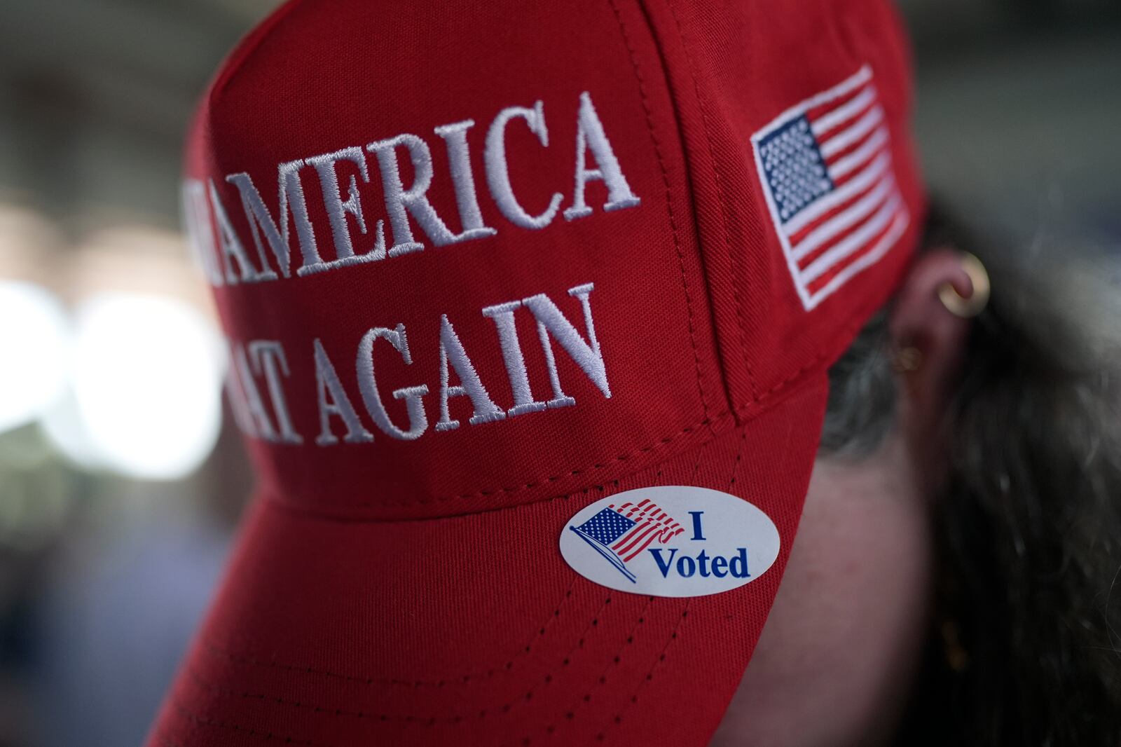
{"label": "red fabric of whole cap, excluding white lettering, flag patch and sticker", "polygon": [[[249,439],[260,495],[150,744],[705,744],[794,540],[825,370],[888,297],[914,243],[921,193],[904,49],[880,0],[296,0],[250,35],[201,107],[186,175],[213,179],[251,257],[226,175],[248,173],[276,215],[279,163],[406,132],[430,147],[427,194],[458,231],[433,128],[467,118],[480,208],[497,233],[435,247],[413,221],[423,251],[215,288],[232,342],[282,342],[286,402],[303,443]],[[807,312],[767,215],[751,136],[864,63],[916,218],[884,259]],[[554,192],[564,209],[582,92],[641,204],[605,212],[608,191],[591,182],[591,215],[558,213],[540,230],[512,224],[488,193],[490,122],[506,107],[544,102],[548,147],[525,122],[511,125],[510,177],[529,212]],[[386,221],[391,242],[368,156],[363,210],[371,229]],[[345,184],[358,170],[340,174]],[[315,172],[302,176],[330,259]],[[413,178],[405,156],[401,177]],[[355,251],[367,251],[372,233],[359,234],[353,220],[350,228]],[[461,426],[434,432],[442,314],[506,409],[502,349],[481,310],[544,293],[583,334],[580,303],[566,292],[586,283],[610,398],[554,344],[575,406],[469,425],[461,397],[451,402]],[[522,308],[516,320],[534,394],[548,398],[532,317]],[[429,425],[415,441],[374,427],[355,379],[363,334],[397,324],[413,363],[382,340],[378,382],[385,393],[428,386]],[[316,445],[313,340],[373,442]],[[406,423],[405,403],[386,402],[390,418]],[[341,436],[339,418],[333,427]],[[612,592],[564,563],[557,537],[573,514],[655,485],[756,504],[779,529],[779,560],[744,587],[691,600]]]}

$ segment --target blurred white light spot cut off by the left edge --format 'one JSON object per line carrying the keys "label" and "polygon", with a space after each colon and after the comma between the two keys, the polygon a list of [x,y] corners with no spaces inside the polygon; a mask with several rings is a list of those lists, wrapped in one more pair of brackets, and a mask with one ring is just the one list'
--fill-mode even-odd
{"label": "blurred white light spot cut off by the left edge", "polygon": [[67,334],[57,298],[0,280],[0,431],[30,423],[63,394]]}

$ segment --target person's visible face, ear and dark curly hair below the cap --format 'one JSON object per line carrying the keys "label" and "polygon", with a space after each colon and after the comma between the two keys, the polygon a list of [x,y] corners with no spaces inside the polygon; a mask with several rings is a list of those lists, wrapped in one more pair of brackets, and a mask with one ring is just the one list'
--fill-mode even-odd
{"label": "person's visible face, ear and dark curly hair below the cap", "polygon": [[[990,302],[948,308],[982,258]],[[1121,264],[943,209],[831,369],[782,587],[714,747],[1121,739]]]}

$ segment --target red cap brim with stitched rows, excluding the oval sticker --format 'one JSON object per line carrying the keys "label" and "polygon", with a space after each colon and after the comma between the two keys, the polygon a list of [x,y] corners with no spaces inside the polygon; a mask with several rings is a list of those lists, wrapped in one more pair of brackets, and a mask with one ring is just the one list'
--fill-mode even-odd
{"label": "red cap brim with stitched rows, excluding the oval sticker", "polygon": [[[513,508],[343,522],[260,496],[149,744],[707,744],[778,589],[826,390],[816,375],[691,452]],[[565,563],[577,510],[666,485],[765,510],[775,565],[724,593],[658,598]]]}

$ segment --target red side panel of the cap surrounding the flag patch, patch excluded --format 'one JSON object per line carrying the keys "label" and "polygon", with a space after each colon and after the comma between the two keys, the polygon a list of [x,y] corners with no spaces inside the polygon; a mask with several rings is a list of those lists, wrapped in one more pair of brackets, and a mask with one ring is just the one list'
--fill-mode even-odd
{"label": "red side panel of the cap surrounding the flag patch, patch excluded", "polygon": [[[890,296],[924,214],[911,147],[910,66],[880,0],[648,0],[691,164],[693,199],[733,408],[749,414],[799,372],[835,360]],[[807,317],[767,214],[751,136],[809,96],[871,66],[911,213],[897,250]],[[807,324],[808,323],[808,324]]]}

